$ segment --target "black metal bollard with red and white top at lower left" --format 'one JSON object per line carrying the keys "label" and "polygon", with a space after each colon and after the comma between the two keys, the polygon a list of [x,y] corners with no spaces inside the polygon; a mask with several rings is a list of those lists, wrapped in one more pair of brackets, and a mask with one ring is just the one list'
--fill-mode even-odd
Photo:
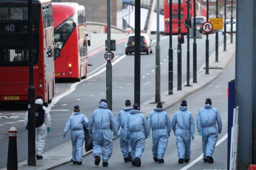
{"label": "black metal bollard with red and white top at lower left", "polygon": [[9,145],[8,145],[8,159],[7,159],[7,170],[17,170],[17,129],[11,127],[9,133]]}

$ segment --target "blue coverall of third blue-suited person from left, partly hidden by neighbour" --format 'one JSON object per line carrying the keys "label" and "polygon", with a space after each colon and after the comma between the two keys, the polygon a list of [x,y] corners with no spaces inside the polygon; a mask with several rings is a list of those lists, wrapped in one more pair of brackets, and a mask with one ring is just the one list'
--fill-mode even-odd
{"label": "blue coverall of third blue-suited person from left, partly hidden by neighbour", "polygon": [[130,139],[128,138],[128,142],[125,141],[124,139],[124,127],[125,127],[125,121],[127,119],[127,116],[130,115],[132,108],[123,108],[122,111],[119,111],[117,117],[116,117],[116,128],[117,132],[119,131],[120,126],[121,131],[120,131],[120,148],[123,153],[124,158],[128,158],[128,153],[131,152],[131,145],[130,145]]}

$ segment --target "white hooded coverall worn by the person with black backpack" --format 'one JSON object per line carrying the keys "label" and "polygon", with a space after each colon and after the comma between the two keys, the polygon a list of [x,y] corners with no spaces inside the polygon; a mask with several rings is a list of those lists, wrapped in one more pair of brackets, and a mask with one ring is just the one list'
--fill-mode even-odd
{"label": "white hooded coverall worn by the person with black backpack", "polygon": [[[47,127],[51,127],[51,116],[49,111],[45,106],[43,106],[44,109],[44,124],[35,127],[35,150],[36,155],[42,156],[47,136]],[[26,127],[28,123],[28,111],[26,112],[25,118],[24,118],[24,125]]]}

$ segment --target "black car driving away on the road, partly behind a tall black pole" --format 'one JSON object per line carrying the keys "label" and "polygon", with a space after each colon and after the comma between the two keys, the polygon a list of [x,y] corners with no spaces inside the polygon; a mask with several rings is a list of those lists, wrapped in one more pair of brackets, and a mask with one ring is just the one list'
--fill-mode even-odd
{"label": "black car driving away on the road, partly behind a tall black pole", "polygon": [[[131,54],[135,51],[135,34],[131,34],[125,43],[125,55]],[[140,34],[140,52],[145,52],[146,54],[153,53],[152,40],[148,34]]]}

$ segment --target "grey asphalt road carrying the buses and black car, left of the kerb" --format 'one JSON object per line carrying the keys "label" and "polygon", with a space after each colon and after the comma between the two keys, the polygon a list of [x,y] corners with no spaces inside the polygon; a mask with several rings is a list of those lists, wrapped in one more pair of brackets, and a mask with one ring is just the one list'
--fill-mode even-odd
{"label": "grey asphalt road carrying the buses and black car, left of the kerb", "polygon": [[[161,51],[161,91],[168,89],[168,49],[169,49],[169,36],[160,36],[160,51]],[[155,46],[155,37],[153,46]],[[219,44],[223,41],[223,37],[219,35]],[[116,51],[114,51],[115,58],[112,62],[112,82],[113,82],[113,106],[112,111],[114,115],[122,109],[125,99],[134,100],[134,55],[125,56],[124,42],[116,44]],[[215,51],[215,36],[209,36],[209,54]],[[192,43],[190,39],[190,75],[192,76]],[[197,68],[205,62],[205,36],[203,39],[197,39],[198,62]],[[204,48],[201,48],[201,47]],[[177,87],[177,36],[173,37],[173,54],[174,54],[174,88]],[[219,49],[222,50],[222,49]],[[186,39],[182,46],[182,82],[186,82]],[[66,124],[67,118],[72,113],[73,106],[79,105],[81,112],[88,118],[94,109],[98,107],[99,99],[106,97],[106,72],[104,59],[104,51],[94,54],[89,57],[89,74],[87,79],[82,82],[58,82],[56,84],[56,97],[66,93],[68,90],[74,90],[71,94],[64,96],[50,109],[52,118],[51,131],[47,135],[47,143],[44,152],[51,150],[54,147],[63,144],[70,140],[63,140],[61,132]],[[153,54],[141,54],[141,102],[144,102],[154,96],[155,83],[155,50]],[[190,77],[191,77],[190,76]],[[75,87],[76,85],[76,87]],[[67,94],[67,93],[66,93]],[[56,98],[55,97],[55,98]],[[12,103],[10,105],[1,105],[0,107],[0,150],[2,159],[0,159],[0,168],[6,167],[8,155],[8,130],[10,127],[16,127],[18,130],[17,138],[17,154],[18,162],[24,161],[28,158],[28,139],[27,130],[24,129],[23,119],[27,110],[26,103]]]}

